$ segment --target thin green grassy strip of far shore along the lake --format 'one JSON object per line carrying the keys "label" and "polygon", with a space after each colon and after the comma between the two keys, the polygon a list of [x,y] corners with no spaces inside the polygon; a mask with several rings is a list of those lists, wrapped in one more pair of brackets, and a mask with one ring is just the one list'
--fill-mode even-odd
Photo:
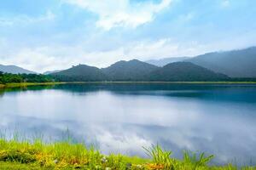
{"label": "thin green grassy strip of far shore along the lake", "polygon": [[22,88],[28,86],[49,86],[58,84],[86,84],[86,83],[166,83],[166,84],[256,84],[256,82],[20,82],[0,84],[0,88]]}

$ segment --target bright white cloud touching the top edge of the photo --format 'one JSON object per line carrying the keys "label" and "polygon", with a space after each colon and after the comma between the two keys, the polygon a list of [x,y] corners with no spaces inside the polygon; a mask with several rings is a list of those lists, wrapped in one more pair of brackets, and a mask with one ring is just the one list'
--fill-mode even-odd
{"label": "bright white cloud touching the top edge of the photo", "polygon": [[125,26],[135,28],[154,20],[154,15],[167,8],[172,0],[162,0],[160,3],[135,3],[129,0],[63,0],[65,3],[77,5],[80,8],[98,14],[96,26],[110,30],[113,27]]}

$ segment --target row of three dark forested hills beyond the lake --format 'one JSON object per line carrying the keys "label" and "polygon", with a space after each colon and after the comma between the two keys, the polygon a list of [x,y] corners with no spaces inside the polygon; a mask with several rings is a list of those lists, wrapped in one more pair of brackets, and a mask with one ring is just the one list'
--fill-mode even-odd
{"label": "row of three dark forested hills beyond the lake", "polygon": [[61,82],[104,81],[224,81],[229,77],[210,71],[189,62],[175,62],[157,67],[137,59],[119,61],[104,69],[88,65],[77,65],[65,71],[50,74]]}

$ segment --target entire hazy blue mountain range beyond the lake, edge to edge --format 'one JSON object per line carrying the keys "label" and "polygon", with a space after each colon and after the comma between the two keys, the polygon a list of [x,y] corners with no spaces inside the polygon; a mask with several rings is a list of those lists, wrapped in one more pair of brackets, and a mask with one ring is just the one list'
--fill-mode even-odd
{"label": "entire hazy blue mountain range beyond the lake, edge to edge", "polygon": [[[184,60],[174,62],[176,60]],[[148,64],[147,62],[154,63]],[[193,58],[121,60],[107,68],[77,65],[64,71],[46,71],[59,81],[215,81],[228,77],[256,77],[256,47],[201,54]],[[166,62],[170,62],[164,65]],[[164,65],[164,66],[156,66]],[[0,71],[13,74],[35,74],[15,65],[0,65]],[[227,76],[224,76],[227,75]],[[238,79],[237,79],[238,80]],[[249,80],[249,79],[248,79]]]}

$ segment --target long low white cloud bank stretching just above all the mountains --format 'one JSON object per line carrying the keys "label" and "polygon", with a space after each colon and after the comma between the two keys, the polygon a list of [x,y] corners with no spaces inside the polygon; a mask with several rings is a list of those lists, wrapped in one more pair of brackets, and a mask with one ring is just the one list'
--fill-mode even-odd
{"label": "long low white cloud bank stretching just above all the mountains", "polygon": [[[250,39],[248,39],[250,35]],[[241,37],[219,40],[218,42],[178,42],[171,38],[158,40],[130,41],[119,44],[119,47],[106,49],[87,48],[86,44],[95,46],[97,42],[86,40],[78,44],[46,44],[12,46],[8,39],[0,38],[0,64],[19,65],[32,71],[51,71],[67,69],[72,65],[95,65],[106,67],[125,59],[162,59],[166,57],[195,56],[207,52],[246,48],[248,42],[255,42],[255,34],[247,33]],[[232,43],[227,43],[232,42]],[[254,43],[255,44],[255,43]]]}

